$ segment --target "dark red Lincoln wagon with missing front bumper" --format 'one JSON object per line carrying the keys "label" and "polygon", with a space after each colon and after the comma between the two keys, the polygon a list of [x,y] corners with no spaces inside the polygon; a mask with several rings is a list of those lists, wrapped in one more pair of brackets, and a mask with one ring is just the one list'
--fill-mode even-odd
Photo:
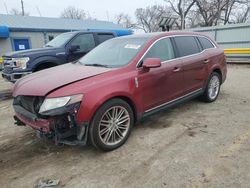
{"label": "dark red Lincoln wagon with missing front bumper", "polygon": [[226,73],[223,50],[205,35],[119,37],[16,82],[15,120],[56,143],[110,151],[148,115],[195,97],[215,101]]}

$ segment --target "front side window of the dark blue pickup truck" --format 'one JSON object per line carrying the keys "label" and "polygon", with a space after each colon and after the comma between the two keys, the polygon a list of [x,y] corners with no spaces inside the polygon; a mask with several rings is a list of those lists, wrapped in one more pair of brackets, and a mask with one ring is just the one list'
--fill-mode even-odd
{"label": "front side window of the dark blue pickup truck", "polygon": [[79,52],[89,52],[95,47],[95,40],[92,34],[82,34],[71,42],[71,46],[79,46]]}

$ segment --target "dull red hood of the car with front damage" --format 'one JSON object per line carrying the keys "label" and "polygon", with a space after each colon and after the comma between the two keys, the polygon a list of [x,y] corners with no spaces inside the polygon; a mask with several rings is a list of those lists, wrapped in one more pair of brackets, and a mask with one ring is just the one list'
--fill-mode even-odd
{"label": "dull red hood of the car with front damage", "polygon": [[83,66],[79,63],[67,63],[30,74],[18,80],[13,89],[13,96],[45,96],[62,86],[110,70],[109,68]]}

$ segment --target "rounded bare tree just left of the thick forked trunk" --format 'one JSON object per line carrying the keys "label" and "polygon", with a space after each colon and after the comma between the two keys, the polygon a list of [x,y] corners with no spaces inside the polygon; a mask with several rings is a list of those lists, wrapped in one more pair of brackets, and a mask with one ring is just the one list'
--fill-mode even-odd
{"label": "rounded bare tree just left of the thick forked trunk", "polygon": [[160,31],[159,21],[163,16],[170,15],[170,10],[161,5],[138,8],[135,11],[137,28],[146,33]]}

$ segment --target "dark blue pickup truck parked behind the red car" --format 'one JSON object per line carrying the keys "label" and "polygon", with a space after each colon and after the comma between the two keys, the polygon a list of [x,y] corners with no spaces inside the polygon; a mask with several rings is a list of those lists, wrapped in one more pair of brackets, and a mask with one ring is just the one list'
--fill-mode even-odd
{"label": "dark blue pickup truck parked behind the red car", "polygon": [[117,37],[115,32],[76,31],[58,35],[43,48],[3,55],[2,77],[10,82],[32,72],[78,60],[100,43]]}

